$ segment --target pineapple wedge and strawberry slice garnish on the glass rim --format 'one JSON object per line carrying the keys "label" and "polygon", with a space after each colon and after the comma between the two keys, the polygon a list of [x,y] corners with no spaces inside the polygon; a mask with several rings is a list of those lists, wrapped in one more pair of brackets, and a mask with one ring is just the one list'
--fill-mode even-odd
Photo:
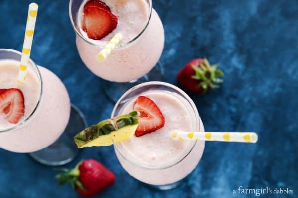
{"label": "pineapple wedge and strawberry slice garnish on the glass rim", "polygon": [[78,148],[110,146],[156,131],[164,126],[165,119],[158,106],[148,97],[139,96],[133,112],[107,119],[92,125],[74,136]]}

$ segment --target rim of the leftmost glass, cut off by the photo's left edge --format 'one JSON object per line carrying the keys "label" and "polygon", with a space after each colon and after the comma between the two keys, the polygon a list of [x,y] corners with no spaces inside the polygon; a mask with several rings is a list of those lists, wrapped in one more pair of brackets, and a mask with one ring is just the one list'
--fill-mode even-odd
{"label": "rim of the leftmost glass, cut off by the photo's left edge", "polygon": [[[0,48],[0,52],[11,52],[11,53],[15,53],[15,54],[18,54],[20,56],[22,56],[22,53],[17,51],[17,50],[14,50],[14,49],[4,49],[4,48]],[[42,99],[42,94],[43,94],[43,82],[42,82],[42,77],[41,77],[41,73],[37,67],[37,65],[35,64],[35,62],[29,58],[29,62],[30,64],[36,69],[37,71],[37,76],[39,77],[39,83],[40,83],[40,94],[39,94],[39,98],[38,98],[38,101],[33,109],[33,111],[30,113],[30,115],[25,118],[22,122],[10,127],[10,128],[7,128],[7,129],[3,129],[3,130],[0,130],[0,133],[2,132],[9,132],[9,131],[13,131],[13,130],[16,130],[18,128],[20,128],[21,126],[25,125],[29,120],[31,120],[31,118],[35,115],[35,113],[37,112],[37,109],[40,105],[40,101]]]}

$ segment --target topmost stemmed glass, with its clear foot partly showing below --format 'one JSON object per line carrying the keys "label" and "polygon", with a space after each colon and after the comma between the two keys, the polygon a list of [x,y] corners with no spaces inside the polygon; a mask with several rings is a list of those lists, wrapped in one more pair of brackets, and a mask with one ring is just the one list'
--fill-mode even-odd
{"label": "topmost stemmed glass, with its clear foot partly showing below", "polygon": [[[158,62],[164,47],[162,22],[152,8],[152,0],[145,0],[148,18],[142,31],[127,43],[118,45],[104,62],[96,60],[104,48],[86,38],[80,28],[80,7],[84,0],[70,0],[69,16],[76,33],[76,46],[85,65],[104,79],[103,89],[114,102],[129,88],[141,82],[162,80],[163,68]],[[120,19],[119,19],[120,20]],[[125,37],[125,35],[123,35]]]}

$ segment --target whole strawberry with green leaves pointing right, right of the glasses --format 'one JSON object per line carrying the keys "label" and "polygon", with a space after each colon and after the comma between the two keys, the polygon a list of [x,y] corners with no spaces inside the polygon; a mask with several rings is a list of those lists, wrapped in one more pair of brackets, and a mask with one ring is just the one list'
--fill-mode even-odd
{"label": "whole strawberry with green leaves pointing right, right of the glasses", "polygon": [[179,71],[177,80],[190,92],[205,93],[209,88],[219,87],[215,83],[224,81],[218,78],[220,76],[224,76],[224,73],[217,69],[217,65],[210,66],[206,58],[197,58],[191,60]]}

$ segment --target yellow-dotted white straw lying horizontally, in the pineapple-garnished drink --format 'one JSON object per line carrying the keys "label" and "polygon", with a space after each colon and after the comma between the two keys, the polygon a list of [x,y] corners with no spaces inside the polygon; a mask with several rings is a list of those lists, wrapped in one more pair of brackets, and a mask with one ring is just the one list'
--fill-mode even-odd
{"label": "yellow-dotted white straw lying horizontally, in the pineapple-garnished drink", "polygon": [[174,131],[172,137],[178,140],[206,140],[223,142],[256,143],[258,135],[255,132],[179,132]]}

